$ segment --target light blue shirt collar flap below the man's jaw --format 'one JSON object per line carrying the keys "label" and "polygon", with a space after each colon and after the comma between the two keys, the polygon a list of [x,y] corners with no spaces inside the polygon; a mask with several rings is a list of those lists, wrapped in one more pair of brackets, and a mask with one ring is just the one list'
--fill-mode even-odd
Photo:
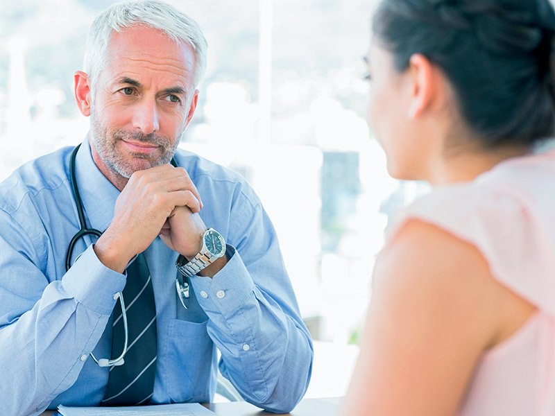
{"label": "light blue shirt collar flap below the man's jaw", "polygon": [[94,163],[89,135],[77,151],[75,171],[83,210],[88,218],[87,227],[104,232],[112,222],[119,189],[106,179]]}

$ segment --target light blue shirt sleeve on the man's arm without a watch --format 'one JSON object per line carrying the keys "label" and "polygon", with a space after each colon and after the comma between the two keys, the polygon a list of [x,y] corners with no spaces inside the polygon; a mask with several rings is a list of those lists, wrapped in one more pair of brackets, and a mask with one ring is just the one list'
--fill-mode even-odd
{"label": "light blue shirt sleeve on the man's arm without a watch", "polygon": [[75,383],[125,277],[103,266],[90,245],[60,280],[51,279],[42,259],[47,250],[37,253],[1,210],[0,223],[2,414],[35,415]]}

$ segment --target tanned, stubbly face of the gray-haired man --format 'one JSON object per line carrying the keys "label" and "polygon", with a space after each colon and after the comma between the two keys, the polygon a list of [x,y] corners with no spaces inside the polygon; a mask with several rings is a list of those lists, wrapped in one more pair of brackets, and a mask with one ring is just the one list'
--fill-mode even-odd
{"label": "tanned, stubbly face of the gray-haired man", "polygon": [[110,177],[168,163],[196,106],[194,51],[153,28],[114,32],[92,86],[92,153]]}

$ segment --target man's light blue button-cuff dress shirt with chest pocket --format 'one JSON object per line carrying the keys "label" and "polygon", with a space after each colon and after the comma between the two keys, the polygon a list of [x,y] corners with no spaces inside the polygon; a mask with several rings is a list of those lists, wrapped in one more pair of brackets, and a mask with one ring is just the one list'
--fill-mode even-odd
{"label": "man's light blue button-cuff dress shirt with chest pocket", "polygon": [[[69,180],[72,148],[35,159],[0,184],[0,408],[36,415],[58,404],[95,406],[111,357],[110,315],[126,277],[103,266],[81,239],[65,271],[79,223]],[[279,413],[304,395],[313,350],[278,240],[259,199],[236,173],[178,150],[204,208],[207,227],[228,243],[228,264],[192,277],[189,309],[178,300],[178,253],[157,237],[145,252],[157,310],[154,403],[211,401],[216,365],[250,403]],[[76,179],[87,226],[104,231],[119,191],[94,164],[85,140]],[[221,360],[216,363],[216,348]]]}

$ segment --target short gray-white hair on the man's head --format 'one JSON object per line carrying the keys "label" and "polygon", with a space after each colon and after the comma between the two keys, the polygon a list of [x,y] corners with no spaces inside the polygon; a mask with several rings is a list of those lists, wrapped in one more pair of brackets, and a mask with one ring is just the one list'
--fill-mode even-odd
{"label": "short gray-white hair on the man's head", "polygon": [[107,64],[107,49],[114,31],[123,32],[137,24],[155,28],[178,44],[191,46],[195,53],[194,86],[206,71],[207,43],[200,26],[185,13],[157,0],[123,1],[112,4],[94,21],[87,35],[83,69],[94,84]]}

